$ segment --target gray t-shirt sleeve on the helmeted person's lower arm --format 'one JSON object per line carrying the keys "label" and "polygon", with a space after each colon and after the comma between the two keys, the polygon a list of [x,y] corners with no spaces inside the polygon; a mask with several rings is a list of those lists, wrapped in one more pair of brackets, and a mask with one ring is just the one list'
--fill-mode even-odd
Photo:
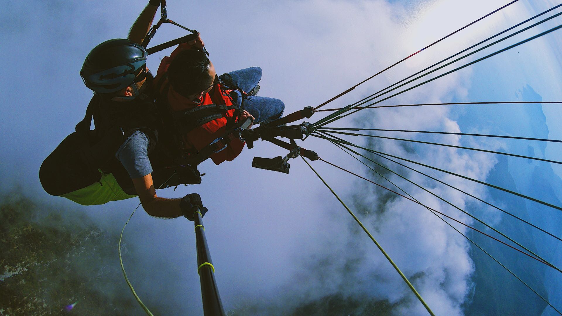
{"label": "gray t-shirt sleeve on the helmeted person's lower arm", "polygon": [[115,153],[115,157],[121,161],[131,179],[142,178],[152,173],[152,165],[148,159],[149,144],[146,134],[137,130]]}

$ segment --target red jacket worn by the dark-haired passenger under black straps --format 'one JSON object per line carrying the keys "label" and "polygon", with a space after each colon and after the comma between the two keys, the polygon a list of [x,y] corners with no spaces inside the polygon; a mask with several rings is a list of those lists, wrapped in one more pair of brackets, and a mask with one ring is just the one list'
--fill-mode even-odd
{"label": "red jacket worn by the dark-haired passenger under black straps", "polygon": [[[203,124],[198,125],[197,122],[193,122],[195,124],[192,124],[192,127],[185,130],[180,129],[180,137],[183,141],[183,148],[180,148],[180,150],[196,152],[209,145],[215,139],[224,136],[227,132],[227,127],[230,128],[237,123],[238,110],[235,109],[235,105],[229,97],[229,91],[226,91],[220,83],[215,84],[211,91],[203,95],[199,104],[189,101],[174,91],[174,88],[167,82],[166,70],[170,62],[180,51],[189,48],[191,46],[187,45],[187,43],[180,44],[171,53],[170,57],[162,58],[155,78],[155,87],[160,88],[160,91],[156,92],[157,96],[159,95],[160,98],[164,99],[160,101],[164,101],[169,105],[169,114],[171,116],[177,117],[185,114],[185,112],[192,112],[192,110],[206,110],[207,108],[210,109],[211,105],[217,106],[216,116],[206,116],[207,119],[202,121]],[[205,108],[205,106],[207,107]],[[201,108],[195,109],[196,107]],[[207,121],[209,119],[211,120]],[[242,152],[243,148],[244,142],[239,141],[239,139],[233,139],[224,150],[213,153],[210,157],[218,165],[225,160],[232,161]]]}

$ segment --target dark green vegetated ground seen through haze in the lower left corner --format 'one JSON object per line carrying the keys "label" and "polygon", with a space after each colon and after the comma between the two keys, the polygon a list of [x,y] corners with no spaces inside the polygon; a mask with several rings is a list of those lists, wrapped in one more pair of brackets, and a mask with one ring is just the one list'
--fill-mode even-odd
{"label": "dark green vegetated ground seen through haze in the lower left corner", "polygon": [[0,201],[0,315],[139,314],[123,292],[117,236],[19,193]]}

